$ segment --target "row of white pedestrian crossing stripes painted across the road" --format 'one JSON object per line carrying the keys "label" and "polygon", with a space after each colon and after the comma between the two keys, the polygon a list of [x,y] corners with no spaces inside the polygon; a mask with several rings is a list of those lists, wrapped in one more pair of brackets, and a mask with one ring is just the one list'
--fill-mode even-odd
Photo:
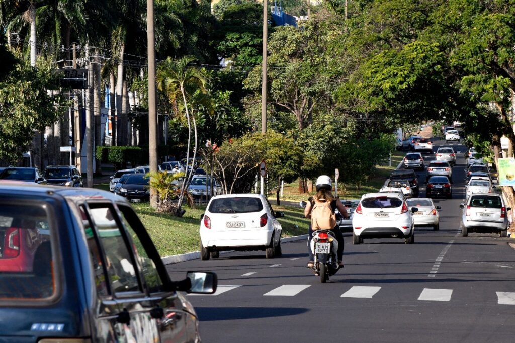
{"label": "row of white pedestrian crossing stripes painted across the road", "polygon": [[[202,294],[188,294],[188,296],[205,296],[205,297],[213,297],[219,296],[224,293],[228,293],[229,291],[233,291],[242,287],[243,285],[218,285],[216,292],[210,295],[202,295]],[[312,287],[313,285],[309,284],[284,284],[279,287],[273,288],[266,293],[262,294],[263,296],[275,296],[275,297],[294,297],[299,295],[306,289]],[[356,298],[356,299],[376,299],[381,296],[381,291],[384,290],[388,293],[386,289],[388,287],[382,286],[345,286],[345,291],[339,297],[340,298]],[[515,305],[515,292],[506,292],[506,291],[496,291],[497,304],[501,305]],[[419,301],[438,301],[438,302],[449,302],[452,300],[453,289],[444,289],[444,288],[423,288],[420,291],[420,295],[416,300]],[[492,294],[493,297],[493,294]],[[415,299],[415,298],[414,298]],[[409,300],[409,299],[408,299]]]}

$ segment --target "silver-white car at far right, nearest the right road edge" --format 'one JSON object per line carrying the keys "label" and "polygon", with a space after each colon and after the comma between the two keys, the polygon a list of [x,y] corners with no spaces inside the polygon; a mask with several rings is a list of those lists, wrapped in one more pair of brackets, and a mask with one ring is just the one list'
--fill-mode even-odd
{"label": "silver-white car at far right, nearest the right road edge", "polygon": [[467,237],[469,232],[497,232],[501,237],[507,236],[508,218],[503,197],[500,194],[473,194],[462,202],[463,210],[461,235]]}

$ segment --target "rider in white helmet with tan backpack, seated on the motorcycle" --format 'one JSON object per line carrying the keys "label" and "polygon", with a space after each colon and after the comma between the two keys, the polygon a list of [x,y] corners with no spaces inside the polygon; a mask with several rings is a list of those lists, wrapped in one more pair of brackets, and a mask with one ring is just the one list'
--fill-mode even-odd
{"label": "rider in white helmet with tan backpack, seated on the motorcycle", "polygon": [[[345,206],[341,203],[341,201],[339,199],[336,199],[334,197],[333,193],[331,193],[332,189],[333,189],[333,183],[329,176],[321,175],[318,177],[317,182],[316,182],[317,194],[314,197],[308,199],[309,201],[307,202],[306,208],[304,209],[304,216],[306,218],[311,219],[311,211],[313,209],[313,206],[315,205],[315,202],[318,201],[319,199],[324,199],[325,201],[330,201],[331,209],[333,210],[333,213],[335,212],[336,209],[338,209],[338,211],[340,211],[340,214],[345,219],[349,218],[349,214],[347,213]],[[336,255],[338,258],[338,266],[341,268],[344,266],[344,264],[341,262],[343,255],[344,255],[344,236],[342,236],[338,225],[336,225],[336,227],[332,231],[335,235],[336,241],[338,241],[338,251],[337,251]],[[313,264],[314,264],[313,252],[311,251],[311,239],[312,238],[313,238],[313,229],[310,224],[310,227],[308,229],[308,242],[307,242],[308,253],[310,256],[310,260],[307,263],[307,267],[309,267],[309,268],[313,267]]]}

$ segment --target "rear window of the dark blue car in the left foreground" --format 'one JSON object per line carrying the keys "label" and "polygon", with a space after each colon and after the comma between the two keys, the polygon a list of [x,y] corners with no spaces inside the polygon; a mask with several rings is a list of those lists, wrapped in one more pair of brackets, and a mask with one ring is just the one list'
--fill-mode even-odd
{"label": "rear window of the dark blue car in the left foreground", "polygon": [[0,300],[54,295],[52,232],[42,207],[0,203]]}

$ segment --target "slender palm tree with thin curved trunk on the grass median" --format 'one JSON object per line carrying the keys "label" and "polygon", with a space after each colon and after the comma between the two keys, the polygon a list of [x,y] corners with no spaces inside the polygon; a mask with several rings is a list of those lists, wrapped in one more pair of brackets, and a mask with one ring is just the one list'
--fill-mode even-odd
{"label": "slender palm tree with thin curved trunk on the grass median", "polygon": [[[186,171],[188,166],[188,161],[190,159],[190,146],[191,146],[191,122],[192,118],[190,116],[190,109],[188,108],[187,97],[193,95],[196,91],[200,91],[202,93],[207,92],[206,85],[208,83],[207,74],[196,67],[188,66],[195,59],[192,56],[185,56],[178,60],[174,60],[171,57],[168,57],[162,64],[158,67],[158,72],[156,76],[156,82],[158,89],[160,91],[165,92],[168,100],[170,101],[171,106],[174,109],[174,112],[178,114],[178,106],[177,106],[177,97],[182,96],[184,112],[186,114],[186,120],[188,123],[188,144],[186,148]],[[184,198],[184,192],[190,179],[193,175],[193,166],[195,165],[195,158],[197,155],[197,124],[195,121],[195,117],[193,116],[193,126],[195,133],[195,146],[193,149],[193,159],[191,163],[190,174],[184,178],[181,187],[181,193],[179,195],[179,200],[177,203],[177,213],[180,213],[182,200]]]}

